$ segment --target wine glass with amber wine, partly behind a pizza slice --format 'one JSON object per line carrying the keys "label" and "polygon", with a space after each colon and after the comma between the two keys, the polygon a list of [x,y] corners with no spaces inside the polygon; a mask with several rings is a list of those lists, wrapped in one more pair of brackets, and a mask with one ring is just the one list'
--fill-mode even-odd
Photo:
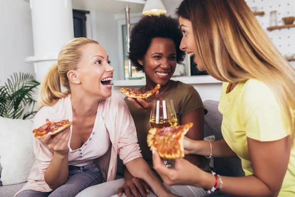
{"label": "wine glass with amber wine, partly behind a pizza slice", "polygon": [[[156,99],[152,102],[149,123],[152,128],[177,126],[177,117],[172,99]],[[171,167],[164,158],[166,167]]]}

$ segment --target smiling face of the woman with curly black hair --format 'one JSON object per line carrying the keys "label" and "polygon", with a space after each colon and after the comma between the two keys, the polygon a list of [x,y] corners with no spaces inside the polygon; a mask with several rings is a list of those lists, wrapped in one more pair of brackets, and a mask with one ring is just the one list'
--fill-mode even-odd
{"label": "smiling face of the woman with curly black hair", "polygon": [[165,85],[172,77],[177,61],[176,46],[170,38],[154,38],[145,55],[144,61],[139,60],[144,66],[147,80],[152,84]]}

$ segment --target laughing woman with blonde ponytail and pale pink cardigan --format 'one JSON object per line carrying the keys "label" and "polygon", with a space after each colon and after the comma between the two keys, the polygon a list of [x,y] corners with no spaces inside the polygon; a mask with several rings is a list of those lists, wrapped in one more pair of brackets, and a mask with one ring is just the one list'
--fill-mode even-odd
{"label": "laughing woman with blonde ponytail and pale pink cardigan", "polygon": [[112,95],[113,72],[108,54],[94,40],[76,38],[61,49],[58,63],[42,82],[33,128],[46,119],[69,119],[73,125],[57,135],[34,138],[36,162],[17,197],[74,197],[112,181],[117,154],[133,176],[147,181],[159,196],[169,194],[142,159],[124,99]]}

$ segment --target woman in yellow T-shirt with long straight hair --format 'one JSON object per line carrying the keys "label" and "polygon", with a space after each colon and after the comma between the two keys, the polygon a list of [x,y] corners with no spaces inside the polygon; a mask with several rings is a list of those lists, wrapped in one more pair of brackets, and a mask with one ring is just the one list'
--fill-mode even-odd
{"label": "woman in yellow T-shirt with long straight hair", "polygon": [[239,157],[245,177],[200,170],[184,159],[168,169],[153,151],[167,184],[245,197],[295,197],[295,71],[273,46],[244,0],[183,0],[177,9],[180,48],[200,70],[224,82],[219,103],[224,140],[188,138],[186,153]]}

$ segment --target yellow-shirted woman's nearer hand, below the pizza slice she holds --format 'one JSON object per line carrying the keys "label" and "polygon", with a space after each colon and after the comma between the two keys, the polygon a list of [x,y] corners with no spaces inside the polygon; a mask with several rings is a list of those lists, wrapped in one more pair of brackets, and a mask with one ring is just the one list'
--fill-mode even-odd
{"label": "yellow-shirted woman's nearer hand, below the pizza slice she holds", "polygon": [[175,160],[175,168],[167,168],[156,151],[152,155],[154,169],[168,185],[192,185],[200,187],[204,171],[183,158]]}

